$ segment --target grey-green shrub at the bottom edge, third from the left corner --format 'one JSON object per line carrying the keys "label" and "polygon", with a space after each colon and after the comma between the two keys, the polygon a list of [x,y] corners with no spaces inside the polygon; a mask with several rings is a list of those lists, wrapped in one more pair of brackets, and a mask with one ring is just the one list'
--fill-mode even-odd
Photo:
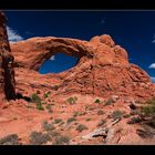
{"label": "grey-green shrub at the bottom edge, third from the left corner", "polygon": [[53,145],[63,145],[69,144],[70,137],[69,136],[58,136],[54,138]]}

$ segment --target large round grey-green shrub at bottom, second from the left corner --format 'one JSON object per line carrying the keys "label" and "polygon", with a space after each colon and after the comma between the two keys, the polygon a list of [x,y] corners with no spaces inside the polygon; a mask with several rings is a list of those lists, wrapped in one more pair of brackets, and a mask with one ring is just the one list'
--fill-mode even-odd
{"label": "large round grey-green shrub at bottom, second from the left corner", "polygon": [[30,135],[30,143],[32,145],[42,145],[50,141],[51,137],[49,134],[43,134],[41,132],[32,132]]}

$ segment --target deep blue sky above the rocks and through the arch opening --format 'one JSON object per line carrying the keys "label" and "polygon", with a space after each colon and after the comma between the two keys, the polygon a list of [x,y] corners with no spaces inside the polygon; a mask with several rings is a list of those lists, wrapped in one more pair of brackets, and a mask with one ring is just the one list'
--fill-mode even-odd
{"label": "deep blue sky above the rocks and through the arch opening", "polygon": [[[10,41],[50,35],[89,41],[94,35],[110,34],[125,48],[130,62],[155,81],[155,11],[6,11],[6,14]],[[60,53],[44,62],[40,73],[58,73],[75,63],[76,59]]]}

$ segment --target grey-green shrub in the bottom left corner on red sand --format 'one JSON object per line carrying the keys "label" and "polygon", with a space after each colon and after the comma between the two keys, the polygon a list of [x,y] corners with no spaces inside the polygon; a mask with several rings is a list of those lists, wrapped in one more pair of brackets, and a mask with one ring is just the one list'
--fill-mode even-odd
{"label": "grey-green shrub in the bottom left corner on red sand", "polygon": [[0,140],[0,145],[18,145],[18,135],[17,134],[11,134],[2,137]]}

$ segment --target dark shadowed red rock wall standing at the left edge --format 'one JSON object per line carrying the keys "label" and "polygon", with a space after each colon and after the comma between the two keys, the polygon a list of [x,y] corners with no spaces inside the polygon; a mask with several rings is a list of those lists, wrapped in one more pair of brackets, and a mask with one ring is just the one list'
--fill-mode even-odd
{"label": "dark shadowed red rock wall standing at the left edge", "polygon": [[8,42],[6,17],[0,11],[0,100],[16,99],[13,55]]}

